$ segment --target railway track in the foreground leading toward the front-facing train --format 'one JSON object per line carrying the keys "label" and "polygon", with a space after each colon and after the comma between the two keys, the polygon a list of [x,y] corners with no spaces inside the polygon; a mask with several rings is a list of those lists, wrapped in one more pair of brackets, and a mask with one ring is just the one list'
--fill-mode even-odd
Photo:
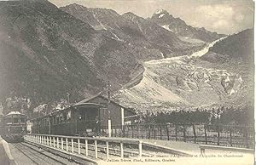
{"label": "railway track in the foreground leading toward the front-facing train", "polygon": [[77,164],[75,162],[69,162],[60,156],[56,156],[48,151],[44,151],[42,148],[30,145],[26,142],[13,144],[15,148],[27,156],[32,162],[38,165],[63,165],[63,164]]}

